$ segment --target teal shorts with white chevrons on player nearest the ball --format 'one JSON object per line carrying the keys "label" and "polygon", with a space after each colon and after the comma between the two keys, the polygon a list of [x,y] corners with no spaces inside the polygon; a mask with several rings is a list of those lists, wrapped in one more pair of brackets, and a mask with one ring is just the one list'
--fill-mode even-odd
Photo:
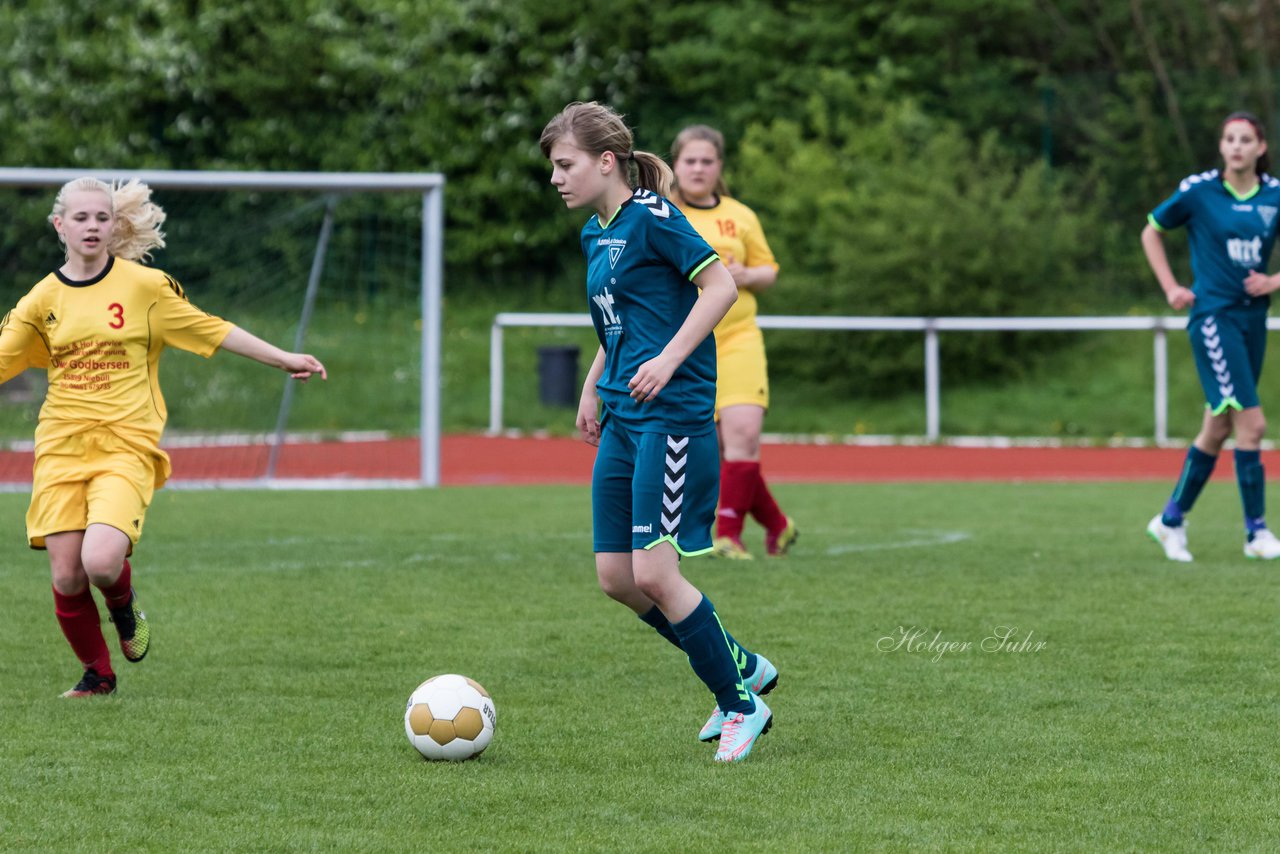
{"label": "teal shorts with white chevrons on player nearest the ball", "polygon": [[631,552],[668,542],[685,556],[712,549],[719,498],[719,443],[703,435],[636,433],[604,423],[591,470],[595,552]]}

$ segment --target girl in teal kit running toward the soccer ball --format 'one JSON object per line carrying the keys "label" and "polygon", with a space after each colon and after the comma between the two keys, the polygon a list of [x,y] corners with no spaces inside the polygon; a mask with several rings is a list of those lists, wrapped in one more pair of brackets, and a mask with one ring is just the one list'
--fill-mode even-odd
{"label": "girl in teal kit running toward the soccer ball", "polygon": [[594,211],[582,227],[582,252],[600,348],[577,428],[599,447],[591,474],[596,577],[605,594],[689,656],[716,697],[699,739],[719,739],[716,761],[736,762],[773,722],[759,694],[777,684],[778,671],[724,630],[710,600],[681,575],[680,557],[712,549],[719,490],[712,329],[737,286],[664,197],[671,169],[634,150],[617,113],[570,104],[543,129],[540,145],[564,204]]}

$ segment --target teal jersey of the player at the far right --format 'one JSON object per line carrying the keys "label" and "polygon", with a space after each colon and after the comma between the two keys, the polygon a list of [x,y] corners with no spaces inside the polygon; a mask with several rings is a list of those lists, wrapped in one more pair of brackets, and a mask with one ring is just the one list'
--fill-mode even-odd
{"label": "teal jersey of the player at the far right", "polygon": [[1151,211],[1147,220],[1158,230],[1187,227],[1192,251],[1192,316],[1222,309],[1266,311],[1271,297],[1251,297],[1244,291],[1249,270],[1267,271],[1276,241],[1280,181],[1258,175],[1248,196],[1236,196],[1217,169],[1184,178],[1178,192]]}

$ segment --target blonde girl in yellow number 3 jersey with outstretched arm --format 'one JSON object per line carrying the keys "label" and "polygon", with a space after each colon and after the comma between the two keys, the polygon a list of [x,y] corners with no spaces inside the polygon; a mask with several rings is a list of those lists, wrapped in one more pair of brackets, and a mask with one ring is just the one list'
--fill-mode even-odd
{"label": "blonde girl in yellow number 3 jersey with outstretched arm", "polygon": [[67,262],[0,321],[0,383],[27,367],[49,371],[36,428],[27,511],[32,548],[47,549],[54,611],[84,672],[63,697],[115,691],[115,672],[90,586],[102,592],[120,650],[147,654],[128,556],[155,489],[169,478],[160,449],[166,417],[157,367],[165,347],[201,356],[219,348],[325,378],[315,357],[287,353],[187,301],[169,275],[138,264],[164,246],[164,211],[137,181],[65,184],[49,216]]}

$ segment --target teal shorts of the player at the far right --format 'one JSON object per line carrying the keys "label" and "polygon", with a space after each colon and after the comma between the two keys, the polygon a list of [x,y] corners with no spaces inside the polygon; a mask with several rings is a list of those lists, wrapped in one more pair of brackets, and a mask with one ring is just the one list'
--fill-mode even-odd
{"label": "teal shorts of the player at the far right", "polygon": [[1228,408],[1258,406],[1258,378],[1267,352],[1267,312],[1224,309],[1187,323],[1204,405],[1220,415]]}

